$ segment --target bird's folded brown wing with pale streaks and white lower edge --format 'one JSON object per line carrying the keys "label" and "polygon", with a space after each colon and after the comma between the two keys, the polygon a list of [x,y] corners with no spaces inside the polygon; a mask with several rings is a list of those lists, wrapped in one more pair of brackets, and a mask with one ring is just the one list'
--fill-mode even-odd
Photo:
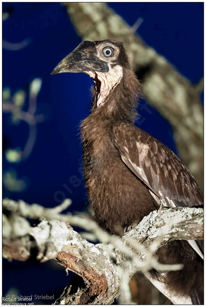
{"label": "bird's folded brown wing with pale streaks and white lower edge", "polygon": [[[112,142],[122,161],[141,179],[158,204],[192,207],[203,204],[203,196],[188,169],[167,146],[138,127],[121,123],[113,129]],[[203,258],[199,244],[187,240]]]}

